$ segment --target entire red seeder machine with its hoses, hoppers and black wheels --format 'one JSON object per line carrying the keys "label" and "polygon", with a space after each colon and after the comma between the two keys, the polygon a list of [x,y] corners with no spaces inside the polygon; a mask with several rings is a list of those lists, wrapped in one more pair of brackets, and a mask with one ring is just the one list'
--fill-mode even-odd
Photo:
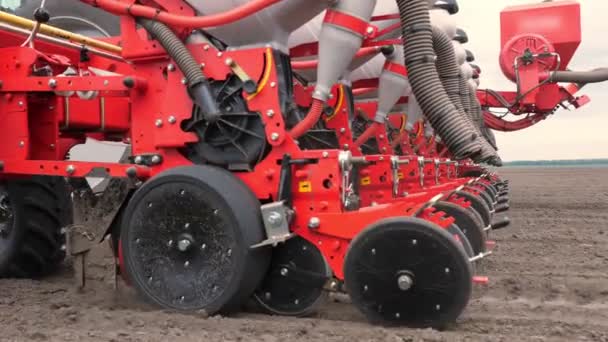
{"label": "entire red seeder machine with its hoses, hoppers and black wheels", "polygon": [[[576,92],[607,78],[567,69],[580,9],[555,1],[502,13],[517,90],[478,89],[456,12],[427,0],[0,12],[0,274],[41,277],[69,253],[82,284],[108,240],[161,308],[303,316],[333,291],[373,322],[453,322],[487,281],[475,266],[488,234],[509,224],[496,215],[508,183],[482,166],[501,164],[491,129],[579,107]],[[87,140],[127,149],[70,158]]]}

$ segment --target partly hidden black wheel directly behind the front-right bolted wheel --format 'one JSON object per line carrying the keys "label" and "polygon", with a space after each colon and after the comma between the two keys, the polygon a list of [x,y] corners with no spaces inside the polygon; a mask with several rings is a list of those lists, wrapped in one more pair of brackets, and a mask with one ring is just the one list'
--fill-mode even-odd
{"label": "partly hidden black wheel directly behind the front-right bolted wheel", "polygon": [[467,237],[475,255],[486,251],[486,233],[483,226],[479,225],[479,222],[469,210],[445,201],[435,203],[434,207],[456,220],[456,225]]}

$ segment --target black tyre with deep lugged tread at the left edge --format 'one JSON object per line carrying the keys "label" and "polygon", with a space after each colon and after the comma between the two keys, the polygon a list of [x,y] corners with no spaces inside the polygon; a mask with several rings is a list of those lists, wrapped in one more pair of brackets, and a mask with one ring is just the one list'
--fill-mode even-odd
{"label": "black tyre with deep lugged tread at the left edge", "polygon": [[40,278],[65,259],[62,228],[72,199],[60,177],[34,176],[0,184],[0,276]]}

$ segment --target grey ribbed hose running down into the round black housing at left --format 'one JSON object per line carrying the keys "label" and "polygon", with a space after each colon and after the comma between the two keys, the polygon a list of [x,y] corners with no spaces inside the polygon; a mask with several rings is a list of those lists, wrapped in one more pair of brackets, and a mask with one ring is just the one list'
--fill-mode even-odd
{"label": "grey ribbed hose running down into the round black housing at left", "polygon": [[221,112],[211,94],[209,82],[184,43],[163,23],[144,18],[138,18],[137,22],[156,38],[169,56],[173,58],[177,67],[186,77],[190,96],[201,108],[205,119],[209,121],[217,119]]}

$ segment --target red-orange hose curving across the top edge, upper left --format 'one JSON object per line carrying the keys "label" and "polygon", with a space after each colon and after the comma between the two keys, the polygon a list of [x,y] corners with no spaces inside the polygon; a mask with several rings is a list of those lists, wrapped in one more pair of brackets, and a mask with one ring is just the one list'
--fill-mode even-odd
{"label": "red-orange hose curving across the top edge, upper left", "polygon": [[237,20],[248,17],[256,12],[270,7],[282,0],[252,0],[244,5],[235,7],[229,11],[205,15],[200,17],[191,17],[184,15],[171,14],[164,11],[159,11],[157,8],[128,5],[118,0],[81,0],[89,5],[99,7],[107,12],[117,15],[129,15],[133,17],[143,17],[156,21],[160,21],[174,27],[190,27],[190,28],[205,28],[226,25]]}

